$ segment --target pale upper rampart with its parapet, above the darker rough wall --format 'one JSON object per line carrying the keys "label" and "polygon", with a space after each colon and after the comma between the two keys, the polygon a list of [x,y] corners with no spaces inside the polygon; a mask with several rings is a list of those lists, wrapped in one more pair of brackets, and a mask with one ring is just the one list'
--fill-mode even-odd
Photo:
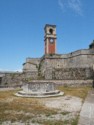
{"label": "pale upper rampart with its parapet, above the darker rough wall", "polygon": [[[94,50],[78,50],[69,54],[45,55],[41,61],[41,74],[47,75],[47,69],[92,68],[94,65]],[[49,75],[49,74],[48,74]]]}

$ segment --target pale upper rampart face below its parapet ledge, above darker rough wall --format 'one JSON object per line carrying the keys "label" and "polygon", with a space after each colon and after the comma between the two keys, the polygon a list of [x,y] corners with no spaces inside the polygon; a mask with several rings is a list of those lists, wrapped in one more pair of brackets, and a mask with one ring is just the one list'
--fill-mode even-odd
{"label": "pale upper rampart face below its parapet ledge, above darker rough wall", "polygon": [[47,58],[41,65],[41,71],[45,71],[48,68],[88,68],[93,67],[94,56],[93,55],[78,55],[71,58]]}

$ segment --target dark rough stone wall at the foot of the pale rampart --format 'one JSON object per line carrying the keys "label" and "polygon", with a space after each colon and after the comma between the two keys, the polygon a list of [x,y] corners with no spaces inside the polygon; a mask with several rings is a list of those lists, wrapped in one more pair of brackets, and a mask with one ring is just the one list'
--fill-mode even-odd
{"label": "dark rough stone wall at the foot of the pale rampart", "polygon": [[93,70],[91,68],[63,68],[46,69],[45,79],[56,80],[85,80],[92,79]]}

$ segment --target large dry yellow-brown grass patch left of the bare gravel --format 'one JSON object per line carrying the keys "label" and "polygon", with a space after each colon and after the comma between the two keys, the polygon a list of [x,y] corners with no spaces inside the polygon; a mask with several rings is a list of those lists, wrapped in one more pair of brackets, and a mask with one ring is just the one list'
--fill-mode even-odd
{"label": "large dry yellow-brown grass patch left of the bare gravel", "polygon": [[38,114],[56,114],[57,111],[44,107],[39,99],[14,96],[15,91],[0,92],[0,121],[27,121]]}

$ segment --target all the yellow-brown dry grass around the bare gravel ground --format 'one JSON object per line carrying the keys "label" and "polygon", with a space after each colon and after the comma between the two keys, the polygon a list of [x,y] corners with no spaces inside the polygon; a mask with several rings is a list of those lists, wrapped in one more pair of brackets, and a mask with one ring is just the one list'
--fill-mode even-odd
{"label": "all the yellow-brown dry grass around the bare gravel ground", "polygon": [[[83,100],[86,98],[90,87],[63,87],[59,86],[59,90],[64,91],[65,95],[71,95],[80,97]],[[72,121],[65,120],[37,120],[37,116],[45,115],[51,117],[52,115],[58,114],[57,109],[51,109],[45,107],[41,103],[41,99],[36,98],[21,98],[14,96],[18,90],[11,91],[0,91],[0,124],[4,121],[22,121],[27,122],[31,120],[34,123],[41,123],[43,125],[77,125],[78,116]],[[62,117],[68,115],[70,112],[61,112]],[[28,122],[29,124],[29,122]]]}

